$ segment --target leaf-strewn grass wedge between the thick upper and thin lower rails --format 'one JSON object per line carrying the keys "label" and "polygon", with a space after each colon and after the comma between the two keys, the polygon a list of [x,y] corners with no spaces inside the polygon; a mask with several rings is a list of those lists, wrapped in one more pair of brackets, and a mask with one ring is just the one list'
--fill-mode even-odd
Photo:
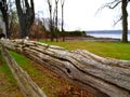
{"label": "leaf-strewn grass wedge between the thick upper and thin lower rails", "polygon": [[[84,96],[92,95],[83,89],[77,88],[69,81],[65,80],[43,68],[41,65],[20,55],[10,52],[16,63],[31,77],[31,79],[43,89],[48,97],[74,97],[74,93],[84,92]],[[73,89],[72,89],[73,88]],[[78,97],[78,96],[77,96]],[[94,97],[93,95],[90,97]]]}

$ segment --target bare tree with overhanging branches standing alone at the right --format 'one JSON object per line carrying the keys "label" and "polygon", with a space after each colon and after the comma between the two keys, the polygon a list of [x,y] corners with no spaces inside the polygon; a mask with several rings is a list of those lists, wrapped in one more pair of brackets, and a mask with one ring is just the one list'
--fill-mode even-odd
{"label": "bare tree with overhanging branches standing alone at the right", "polygon": [[109,3],[106,3],[102,9],[109,8],[115,9],[121,3],[121,17],[119,20],[122,20],[122,42],[128,42],[128,11],[127,6],[130,0],[114,0]]}

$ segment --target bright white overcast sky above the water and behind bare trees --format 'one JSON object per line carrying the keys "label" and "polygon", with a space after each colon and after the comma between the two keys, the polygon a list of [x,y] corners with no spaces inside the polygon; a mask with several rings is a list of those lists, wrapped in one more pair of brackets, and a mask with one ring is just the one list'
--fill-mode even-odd
{"label": "bright white overcast sky above the water and behind bare trees", "polygon": [[[54,1],[54,0],[53,0]],[[121,22],[114,26],[121,14],[120,6],[113,10],[98,9],[110,0],[65,0],[64,19],[66,30],[113,30],[121,29]],[[49,16],[47,0],[35,0],[36,12]],[[58,12],[60,13],[60,12]]]}

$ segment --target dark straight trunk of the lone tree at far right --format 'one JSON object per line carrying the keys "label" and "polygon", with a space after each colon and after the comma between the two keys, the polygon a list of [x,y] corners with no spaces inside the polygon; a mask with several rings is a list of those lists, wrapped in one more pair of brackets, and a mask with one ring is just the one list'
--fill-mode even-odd
{"label": "dark straight trunk of the lone tree at far right", "polygon": [[122,11],[122,42],[128,42],[128,12],[127,4],[128,0],[121,1],[121,11]]}

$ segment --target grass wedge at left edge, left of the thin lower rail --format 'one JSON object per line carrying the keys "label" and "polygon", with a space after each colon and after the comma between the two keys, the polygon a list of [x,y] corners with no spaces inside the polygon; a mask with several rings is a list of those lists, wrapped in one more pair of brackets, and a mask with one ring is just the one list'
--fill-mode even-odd
{"label": "grass wedge at left edge, left of the thin lower rail", "polygon": [[23,97],[0,52],[0,97]]}

